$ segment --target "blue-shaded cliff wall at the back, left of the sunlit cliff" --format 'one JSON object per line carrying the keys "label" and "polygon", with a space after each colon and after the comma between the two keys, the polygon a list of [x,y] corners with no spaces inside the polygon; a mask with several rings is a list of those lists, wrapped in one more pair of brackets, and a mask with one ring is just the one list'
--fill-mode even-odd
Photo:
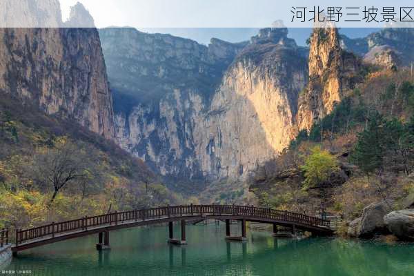
{"label": "blue-shaded cliff wall at the back, left of the sunlit cliff", "polygon": [[227,66],[246,43],[206,47],[132,28],[100,30],[119,144],[162,175],[201,179],[193,137]]}

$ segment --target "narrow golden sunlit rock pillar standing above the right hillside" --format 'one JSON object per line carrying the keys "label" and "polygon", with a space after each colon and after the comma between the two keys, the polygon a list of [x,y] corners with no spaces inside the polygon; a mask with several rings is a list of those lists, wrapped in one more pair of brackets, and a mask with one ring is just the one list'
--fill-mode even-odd
{"label": "narrow golden sunlit rock pillar standing above the right hillside", "polygon": [[333,26],[315,28],[309,49],[309,84],[299,97],[297,128],[309,130],[355,86],[359,61],[341,48]]}

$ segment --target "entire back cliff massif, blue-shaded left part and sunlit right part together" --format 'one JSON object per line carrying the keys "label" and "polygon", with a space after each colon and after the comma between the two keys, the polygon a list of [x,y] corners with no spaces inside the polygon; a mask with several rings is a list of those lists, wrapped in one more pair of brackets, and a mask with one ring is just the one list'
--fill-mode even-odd
{"label": "entire back cliff massif, blue-shaded left part and sunlit right part together", "polygon": [[[286,28],[208,47],[166,34],[100,30],[117,140],[162,175],[246,177],[295,135],[304,50]],[[248,44],[248,45],[247,45]]]}

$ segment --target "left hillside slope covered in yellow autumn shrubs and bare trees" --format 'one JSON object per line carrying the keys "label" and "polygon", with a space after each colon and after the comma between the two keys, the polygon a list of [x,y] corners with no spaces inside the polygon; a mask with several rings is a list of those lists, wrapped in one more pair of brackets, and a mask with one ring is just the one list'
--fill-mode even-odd
{"label": "left hillside slope covered in yellow autumn shrubs and bare trees", "polygon": [[70,121],[0,101],[0,228],[175,204],[144,163]]}

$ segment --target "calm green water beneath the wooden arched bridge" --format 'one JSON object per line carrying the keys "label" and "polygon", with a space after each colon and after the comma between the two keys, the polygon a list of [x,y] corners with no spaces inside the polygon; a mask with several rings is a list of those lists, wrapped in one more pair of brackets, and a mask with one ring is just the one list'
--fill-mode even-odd
{"label": "calm green water beneath the wooden arched bridge", "polygon": [[[232,225],[232,234],[239,228]],[[19,253],[6,270],[30,275],[414,275],[414,244],[344,239],[275,239],[250,232],[226,242],[224,225],[187,226],[188,245],[166,243],[168,228],[110,233],[111,250],[97,252],[96,235]],[[175,228],[179,237],[179,228]],[[0,270],[1,274],[1,270]]]}

